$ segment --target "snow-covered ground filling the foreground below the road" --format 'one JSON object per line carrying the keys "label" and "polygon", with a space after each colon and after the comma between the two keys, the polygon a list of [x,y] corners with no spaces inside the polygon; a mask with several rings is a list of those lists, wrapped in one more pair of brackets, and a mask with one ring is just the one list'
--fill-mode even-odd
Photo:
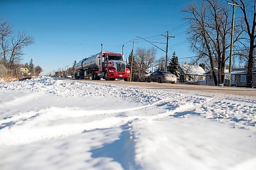
{"label": "snow-covered ground filling the foreground below the road", "polygon": [[0,84],[0,169],[256,169],[256,97]]}

